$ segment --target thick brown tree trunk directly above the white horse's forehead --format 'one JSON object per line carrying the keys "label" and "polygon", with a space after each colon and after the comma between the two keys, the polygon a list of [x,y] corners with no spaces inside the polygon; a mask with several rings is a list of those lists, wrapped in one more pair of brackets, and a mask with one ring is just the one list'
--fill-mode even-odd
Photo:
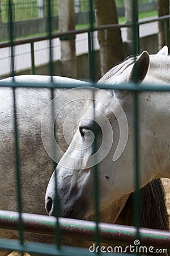
{"label": "thick brown tree trunk directly above the white horse's forehead", "polygon": [[[118,23],[114,0],[95,0],[94,3],[97,26]],[[97,38],[100,45],[101,75],[103,76],[108,69],[124,60],[121,31],[120,29],[100,30]]]}

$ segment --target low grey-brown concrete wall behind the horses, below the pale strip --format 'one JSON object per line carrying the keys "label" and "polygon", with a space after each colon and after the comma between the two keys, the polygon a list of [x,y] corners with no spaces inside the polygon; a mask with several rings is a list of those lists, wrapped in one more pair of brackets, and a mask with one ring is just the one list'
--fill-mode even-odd
{"label": "low grey-brown concrete wall behind the horses, below the pale strip", "polygon": [[[158,35],[150,35],[145,36],[140,39],[141,51],[148,51],[148,53],[153,54],[158,52]],[[125,56],[129,56],[130,53],[130,44],[124,43],[124,52]],[[89,65],[88,65],[88,53],[83,55],[79,55],[76,58],[77,67],[78,67],[78,79],[88,80],[90,79],[89,75]],[[100,78],[100,54],[99,51],[95,52],[95,72],[96,72],[96,80]],[[61,61],[54,61],[54,75],[61,75]],[[16,75],[26,75],[30,74],[31,69],[25,69],[23,71],[17,72]],[[35,68],[36,75],[49,75],[49,64],[40,65]],[[67,76],[67,74],[65,74]],[[7,76],[6,76],[7,77]]]}

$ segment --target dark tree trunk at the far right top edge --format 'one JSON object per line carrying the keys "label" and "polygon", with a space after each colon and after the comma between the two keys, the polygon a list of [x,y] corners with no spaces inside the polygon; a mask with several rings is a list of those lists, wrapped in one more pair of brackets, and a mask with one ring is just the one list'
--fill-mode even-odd
{"label": "dark tree trunk at the far right top edge", "polygon": [[[169,0],[158,0],[158,16],[169,14]],[[158,23],[159,33],[158,33],[158,47],[159,49],[163,46],[169,46],[169,20],[160,21]]]}

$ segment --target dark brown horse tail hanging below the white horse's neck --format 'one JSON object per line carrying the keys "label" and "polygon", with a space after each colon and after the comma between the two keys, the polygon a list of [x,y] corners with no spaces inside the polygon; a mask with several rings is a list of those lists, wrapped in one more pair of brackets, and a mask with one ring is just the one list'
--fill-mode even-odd
{"label": "dark brown horse tail hanging below the white horse's neck", "polygon": [[[134,226],[133,196],[131,193],[122,209],[121,224]],[[141,226],[143,228],[169,230],[169,218],[165,203],[165,191],[161,179],[154,179],[141,188]]]}

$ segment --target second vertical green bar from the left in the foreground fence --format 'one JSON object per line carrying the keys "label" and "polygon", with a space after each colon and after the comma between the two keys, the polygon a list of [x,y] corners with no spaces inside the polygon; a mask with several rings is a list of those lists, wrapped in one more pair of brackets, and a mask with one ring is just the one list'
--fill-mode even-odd
{"label": "second vertical green bar from the left in the foreground fence", "polygon": [[[49,73],[50,73],[50,80],[53,82],[53,44],[52,44],[52,6],[51,0],[47,1],[47,19],[48,19],[48,42],[49,42]],[[55,121],[54,117],[54,90],[51,90],[51,100],[52,100],[52,123]],[[54,126],[54,134],[56,134],[56,129]],[[52,141],[52,148],[54,155],[57,154],[55,142]],[[53,168],[56,169],[56,163],[53,162]],[[56,191],[56,201],[54,202],[54,213],[56,216],[56,244],[58,249],[61,247],[61,230],[59,228],[59,198],[57,193],[57,174],[54,175],[55,177],[55,191]]]}

